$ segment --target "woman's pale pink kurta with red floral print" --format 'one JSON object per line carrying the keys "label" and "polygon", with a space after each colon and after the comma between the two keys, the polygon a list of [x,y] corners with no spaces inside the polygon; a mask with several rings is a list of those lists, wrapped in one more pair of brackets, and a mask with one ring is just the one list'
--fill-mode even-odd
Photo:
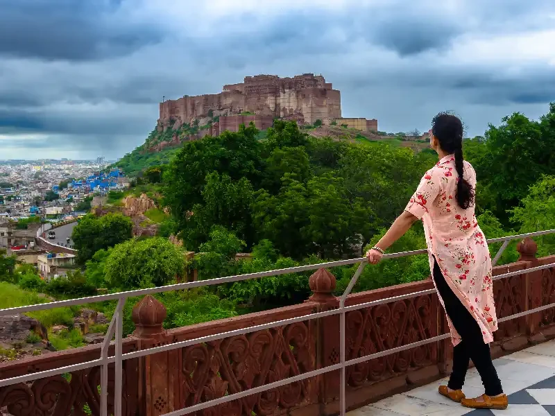
{"label": "woman's pale pink kurta with red floral print", "polygon": [[[435,256],[445,281],[478,322],[484,342],[491,343],[497,330],[491,258],[475,207],[462,209],[456,202],[459,175],[454,161],[453,155],[445,156],[427,171],[405,210],[424,223],[430,270],[434,272]],[[476,189],[476,172],[466,161],[463,175]],[[453,345],[457,345],[461,337],[447,320]]]}

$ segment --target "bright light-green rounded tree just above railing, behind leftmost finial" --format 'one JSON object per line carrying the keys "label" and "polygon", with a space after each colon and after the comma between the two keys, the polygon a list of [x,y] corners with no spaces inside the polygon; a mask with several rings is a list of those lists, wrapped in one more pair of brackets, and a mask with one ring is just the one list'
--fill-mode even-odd
{"label": "bright light-green rounded tree just above railing, behind leftmost finial", "polygon": [[110,288],[164,286],[181,278],[184,272],[184,253],[161,237],[118,244],[105,262],[105,279]]}

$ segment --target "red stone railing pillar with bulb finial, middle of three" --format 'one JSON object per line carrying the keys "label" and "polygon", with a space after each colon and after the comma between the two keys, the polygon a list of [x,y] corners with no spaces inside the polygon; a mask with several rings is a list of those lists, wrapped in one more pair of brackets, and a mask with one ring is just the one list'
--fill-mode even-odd
{"label": "red stone railing pillar with bulb finial, middle of three", "polygon": [[[325,268],[320,268],[311,275],[309,287],[312,295],[309,302],[316,304],[314,312],[329,311],[339,306],[339,299],[334,296],[336,279]],[[322,368],[339,363],[339,315],[312,320],[316,334],[316,367]],[[326,404],[336,405],[334,399],[339,397],[339,371],[328,372],[319,376],[318,401],[321,404],[320,415],[330,414]]]}

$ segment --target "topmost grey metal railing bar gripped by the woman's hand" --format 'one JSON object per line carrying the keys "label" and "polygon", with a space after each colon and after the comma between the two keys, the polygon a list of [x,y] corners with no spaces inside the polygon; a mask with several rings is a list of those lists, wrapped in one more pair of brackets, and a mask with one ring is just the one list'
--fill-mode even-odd
{"label": "topmost grey metal railing bar gripped by the woman's hand", "polygon": [[[549,229],[546,231],[540,232],[532,232],[528,234],[518,234],[515,236],[506,236],[506,237],[499,237],[499,239],[490,239],[487,240],[488,243],[495,242],[495,241],[505,241],[507,239],[520,239],[521,237],[526,236],[539,236],[545,235],[555,232],[555,229]],[[395,259],[398,257],[407,257],[416,254],[425,254],[427,250],[413,250],[409,252],[398,252],[398,253],[391,253],[385,254],[383,256],[384,259]],[[70,300],[60,300],[57,302],[49,302],[45,304],[35,304],[29,306],[17,306],[15,308],[8,308],[8,309],[0,309],[0,316],[3,315],[12,315],[16,313],[24,313],[24,312],[33,312],[33,311],[44,311],[46,309],[55,309],[60,308],[63,306],[74,306],[79,304],[87,304],[87,303],[96,303],[96,302],[105,302],[107,300],[119,300],[121,298],[128,298],[128,297],[136,297],[136,296],[144,296],[144,295],[153,295],[155,293],[164,293],[169,291],[180,291],[189,288],[198,288],[202,286],[214,286],[216,284],[224,284],[224,283],[232,283],[234,281],[244,281],[250,279],[257,279],[259,277],[268,277],[268,276],[278,276],[278,275],[286,275],[289,273],[295,272],[303,272],[307,270],[315,270],[318,268],[334,268],[339,266],[350,266],[352,264],[362,263],[366,261],[366,257],[360,257],[358,259],[347,259],[347,260],[339,260],[339,261],[328,261],[326,263],[318,263],[318,264],[308,264],[305,266],[296,266],[291,268],[283,268],[278,270],[268,270],[266,272],[256,272],[256,273],[248,273],[246,275],[234,275],[234,276],[227,276],[227,277],[217,277],[216,279],[207,279],[207,280],[199,280],[199,281],[189,281],[185,283],[178,283],[178,284],[171,284],[167,286],[160,286],[157,288],[146,288],[146,289],[137,289],[135,291],[125,291],[125,292],[118,292],[118,293],[110,293],[108,295],[96,295],[96,296],[89,296],[89,297],[80,297],[78,299],[70,299]]]}

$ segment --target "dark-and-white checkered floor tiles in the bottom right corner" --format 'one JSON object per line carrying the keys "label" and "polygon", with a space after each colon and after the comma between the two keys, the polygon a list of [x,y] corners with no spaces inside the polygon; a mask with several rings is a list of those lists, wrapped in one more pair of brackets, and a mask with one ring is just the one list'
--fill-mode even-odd
{"label": "dark-and-white checkered floor tiles in the bottom right corner", "polygon": [[555,376],[509,395],[507,410],[472,410],[466,416],[555,416]]}

